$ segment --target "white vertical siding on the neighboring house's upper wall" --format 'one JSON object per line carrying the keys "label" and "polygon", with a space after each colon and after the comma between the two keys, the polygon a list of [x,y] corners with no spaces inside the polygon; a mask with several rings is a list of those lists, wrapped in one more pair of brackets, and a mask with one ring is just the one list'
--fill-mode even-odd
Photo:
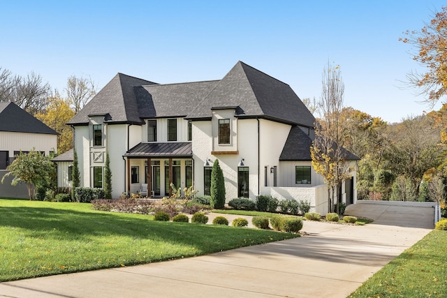
{"label": "white vertical siding on the neighboring house's upper wall", "polygon": [[14,156],[14,151],[57,151],[57,135],[43,133],[16,133],[9,131],[0,132],[0,151],[9,151],[9,156]]}

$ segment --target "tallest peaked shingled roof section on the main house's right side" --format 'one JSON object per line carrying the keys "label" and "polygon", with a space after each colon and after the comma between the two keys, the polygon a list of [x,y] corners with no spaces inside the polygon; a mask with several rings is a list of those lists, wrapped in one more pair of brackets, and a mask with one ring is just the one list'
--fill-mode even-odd
{"label": "tallest peaked shingled roof section on the main house's right side", "polygon": [[186,117],[211,118],[214,107],[237,107],[237,117],[263,117],[313,127],[315,118],[291,87],[241,61]]}

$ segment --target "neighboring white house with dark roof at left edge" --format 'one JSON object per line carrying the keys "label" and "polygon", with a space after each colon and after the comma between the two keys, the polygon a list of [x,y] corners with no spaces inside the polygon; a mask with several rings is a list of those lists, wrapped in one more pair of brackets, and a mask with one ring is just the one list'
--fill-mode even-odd
{"label": "neighboring white house with dark roof at left edge", "polygon": [[[48,156],[57,151],[57,132],[15,103],[0,103],[0,180],[6,167],[13,163],[14,156],[31,150]],[[0,184],[0,197],[27,198],[27,187],[11,186],[13,177]]]}

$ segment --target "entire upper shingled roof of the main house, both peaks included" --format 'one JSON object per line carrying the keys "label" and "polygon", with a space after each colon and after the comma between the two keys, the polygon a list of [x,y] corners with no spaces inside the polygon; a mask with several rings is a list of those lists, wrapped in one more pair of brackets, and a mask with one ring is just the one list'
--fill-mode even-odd
{"label": "entire upper shingled roof of the main house, both peaks included", "polygon": [[265,118],[313,127],[315,118],[288,84],[241,61],[222,80],[156,84],[118,73],[69,125],[86,125],[89,115],[108,123],[143,124],[147,118],[211,119],[213,108],[233,107],[236,117]]}

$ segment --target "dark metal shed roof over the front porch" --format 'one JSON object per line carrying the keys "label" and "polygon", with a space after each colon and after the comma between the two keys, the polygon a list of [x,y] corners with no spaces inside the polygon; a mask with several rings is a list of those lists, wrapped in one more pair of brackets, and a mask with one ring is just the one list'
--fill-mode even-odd
{"label": "dark metal shed roof over the front porch", "polygon": [[140,143],[124,154],[132,158],[191,158],[191,142]]}

